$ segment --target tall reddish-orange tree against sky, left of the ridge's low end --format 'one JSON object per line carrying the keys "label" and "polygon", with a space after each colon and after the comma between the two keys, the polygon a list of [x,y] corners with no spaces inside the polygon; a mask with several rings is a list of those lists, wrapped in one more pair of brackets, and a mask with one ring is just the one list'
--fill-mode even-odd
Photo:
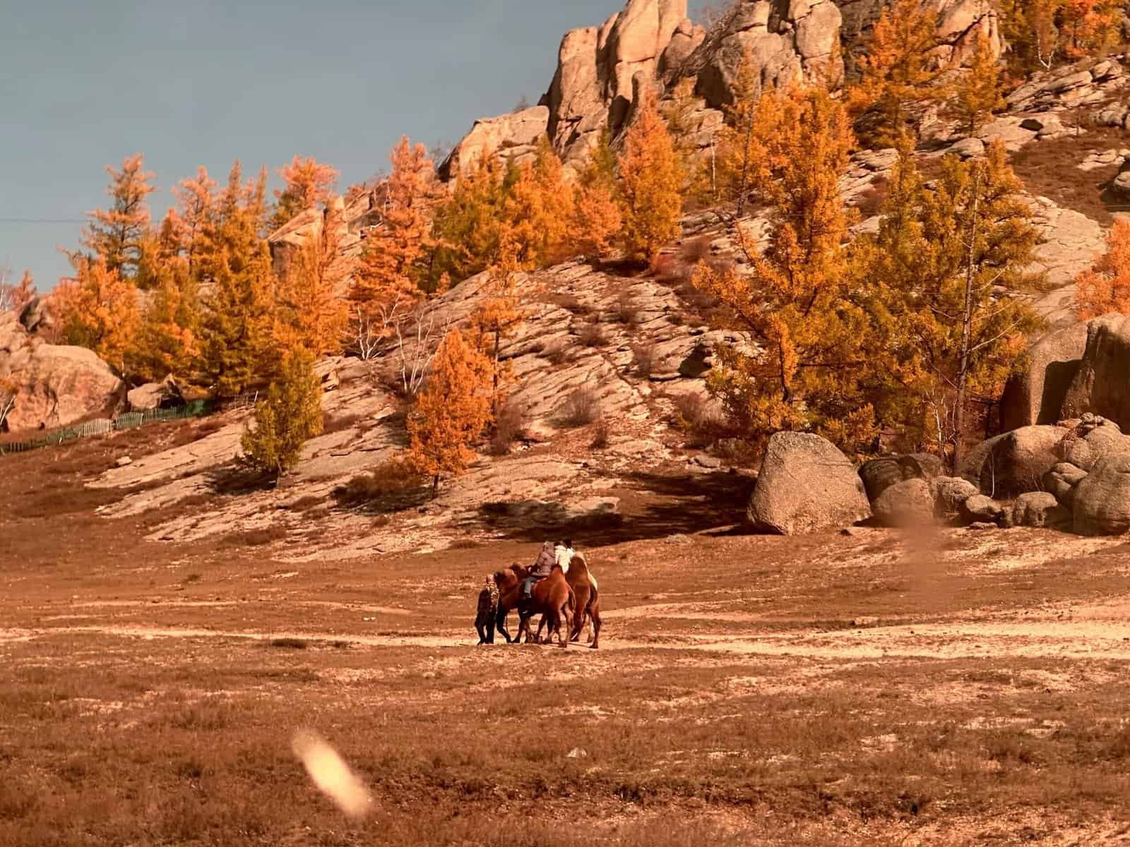
{"label": "tall reddish-orange tree against sky, left of the ridge's low end", "polygon": [[390,158],[392,172],[379,189],[381,220],[365,238],[348,292],[358,334],[383,332],[425,290],[435,167],[424,145],[412,145],[407,136]]}

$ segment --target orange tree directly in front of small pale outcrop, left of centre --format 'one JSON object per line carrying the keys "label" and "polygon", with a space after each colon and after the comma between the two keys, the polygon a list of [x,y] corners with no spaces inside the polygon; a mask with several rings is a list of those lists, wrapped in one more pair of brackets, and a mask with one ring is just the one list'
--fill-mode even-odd
{"label": "orange tree directly in front of small pale outcrop, left of centre", "polygon": [[331,200],[322,226],[279,273],[276,307],[277,343],[301,347],[316,356],[341,351],[348,323],[342,298],[347,268],[338,255],[342,206]]}

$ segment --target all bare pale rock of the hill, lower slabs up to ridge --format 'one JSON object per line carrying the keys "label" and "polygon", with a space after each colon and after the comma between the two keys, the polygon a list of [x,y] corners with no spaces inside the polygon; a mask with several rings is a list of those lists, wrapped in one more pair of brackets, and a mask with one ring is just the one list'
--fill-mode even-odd
{"label": "all bare pale rock of the hill, lower slabs up to ridge", "polygon": [[[669,96],[681,79],[694,82],[695,125],[699,145],[706,147],[721,123],[736,63],[747,51],[756,56],[766,82],[835,78],[842,75],[840,56],[855,49],[880,7],[869,0],[758,0],[740,3],[736,14],[706,32],[690,24],[683,0],[631,0],[602,26],[568,33],[541,103],[479,121],[442,172],[455,178],[480,156],[521,157],[542,136],[566,161],[575,163],[601,128],[619,131],[631,121],[642,86]],[[946,50],[959,55],[979,34],[1000,45],[989,3],[953,0],[941,8]],[[835,50],[836,44],[843,50]],[[1130,191],[1130,180],[1122,176],[1130,171],[1122,134],[1130,108],[1128,86],[1130,72],[1122,56],[1037,75],[1018,87],[1007,112],[975,137],[935,116],[924,126],[916,154],[928,166],[946,154],[976,156],[996,139],[1011,151],[1042,235],[1037,260],[1046,290],[1037,306],[1053,332],[1034,339],[1031,364],[1009,386],[1001,419],[1007,429],[1075,419],[1055,428],[1055,445],[1075,438],[1085,412],[1130,427],[1116,400],[1124,375],[1104,352],[1122,349],[1122,330],[1103,333],[1101,343],[1097,331],[1075,323],[1072,309],[1072,280],[1102,252],[1105,227],[1121,208],[1122,193]],[[877,226],[873,199],[881,195],[895,160],[894,150],[862,150],[842,178],[842,195],[860,212],[859,232]],[[341,203],[342,263],[355,261],[367,229],[379,225],[377,208],[373,193]],[[316,235],[323,220],[321,212],[310,211],[275,233],[270,241],[276,257]],[[742,226],[756,234],[765,232],[766,224],[755,215]],[[739,342],[710,328],[712,304],[688,285],[694,262],[704,256],[741,261],[710,211],[684,219],[681,237],[664,251],[655,272],[570,262],[523,277],[527,320],[505,340],[502,353],[512,368],[513,404],[524,436],[510,454],[484,451],[471,471],[433,503],[414,503],[389,517],[342,505],[334,495],[405,446],[398,383],[406,361],[420,361],[419,343],[411,340],[372,361],[323,364],[327,430],[306,445],[302,463],[278,489],[241,488],[233,459],[245,412],[219,419],[190,444],[131,456],[93,484],[131,489],[105,514],[154,513],[154,539],[191,541],[271,531],[293,548],[288,555],[295,558],[442,549],[477,534],[530,527],[615,526],[625,518],[645,521],[663,492],[683,498],[683,508],[690,501],[697,509],[725,510],[738,504],[740,517],[755,475],[740,452],[716,445],[707,453],[677,425],[680,410],[684,418],[687,408],[711,413],[703,399],[711,351],[716,344]],[[445,292],[427,313],[423,330],[434,338],[441,329],[458,325],[483,296],[484,283],[480,276]],[[7,359],[0,356],[0,363],[9,373],[18,370],[28,386],[49,386],[28,387],[28,396],[45,392],[58,398],[59,384],[82,382],[35,376],[38,366],[20,363],[72,353],[28,342],[21,329],[9,324],[0,324],[0,344],[7,344],[0,350]],[[111,384],[112,375],[96,360],[77,365],[76,373],[93,373],[97,379],[84,383],[95,387],[68,398],[68,403],[77,403],[67,413],[72,419],[97,412],[107,398],[116,396],[120,386]],[[46,411],[37,418],[27,411],[34,408],[21,403],[21,414],[32,416],[29,425],[49,419]],[[984,455],[1000,456],[1001,449],[989,448]],[[1043,464],[1025,483],[1033,488],[1044,487],[1044,477],[1066,462],[1055,455],[1059,446],[1041,449]],[[1048,464],[1053,455],[1055,461]],[[977,486],[981,470],[971,468],[967,474]],[[1071,477],[1072,484],[1081,479],[1069,469],[1059,472]],[[316,533],[310,530],[313,514],[319,518]]]}

